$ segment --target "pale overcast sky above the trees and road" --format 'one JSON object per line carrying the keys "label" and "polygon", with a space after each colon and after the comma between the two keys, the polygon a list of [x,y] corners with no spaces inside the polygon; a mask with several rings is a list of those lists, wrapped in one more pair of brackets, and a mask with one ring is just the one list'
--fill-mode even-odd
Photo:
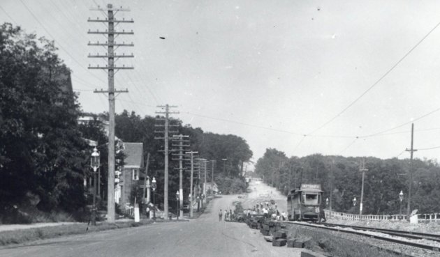
{"label": "pale overcast sky above the trees and road", "polygon": [[[55,40],[82,109],[94,113],[108,111],[106,96],[93,93],[107,88],[107,75],[87,70],[105,65],[87,54],[105,49],[87,42],[106,39],[87,34],[105,29],[87,18],[102,18],[89,9],[107,3],[0,0],[2,22]],[[118,61],[135,69],[115,75],[116,88],[129,89],[117,96],[117,113],[153,116],[158,104],[177,105],[186,124],[246,139],[254,161],[265,148],[407,158],[411,120],[415,148],[440,146],[440,1],[110,3],[131,9],[116,17],[133,18],[118,29],[135,33],[116,40],[135,44],[116,51],[135,55]]]}

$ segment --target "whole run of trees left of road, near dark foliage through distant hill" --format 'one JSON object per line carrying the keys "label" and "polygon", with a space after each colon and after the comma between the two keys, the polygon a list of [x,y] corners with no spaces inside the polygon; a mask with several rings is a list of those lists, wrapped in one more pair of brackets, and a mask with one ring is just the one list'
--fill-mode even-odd
{"label": "whole run of trees left of road, near dark foliage through distant hill", "polygon": [[[0,26],[0,219],[5,222],[31,222],[32,214],[68,212],[87,216],[87,189],[83,182],[92,176],[89,167],[91,146],[97,141],[101,153],[101,192],[105,196],[108,172],[108,139],[101,121],[78,124],[82,115],[71,88],[71,71],[59,59],[54,42],[36,38],[11,24]],[[94,115],[106,118],[107,114]],[[116,117],[116,134],[126,142],[142,142],[151,154],[149,176],[157,183],[157,201],[163,201],[163,141],[154,139],[152,116],[140,117],[128,111]],[[198,157],[227,158],[225,173],[217,168],[214,176],[225,189],[244,189],[239,178],[243,162],[251,150],[244,139],[234,135],[203,132],[200,128],[173,120],[179,133],[187,134],[191,150]],[[119,153],[119,165],[124,155]],[[117,164],[118,165],[118,164]],[[176,161],[170,158],[170,196],[178,189]],[[186,163],[188,166],[188,163]],[[210,166],[208,166],[210,167]],[[210,169],[210,168],[208,168]],[[210,172],[207,173],[210,181]],[[184,173],[185,189],[189,172]],[[142,190],[135,192],[140,194]],[[185,191],[187,196],[189,192]],[[105,201],[105,197],[103,198]],[[101,201],[101,203],[103,202]],[[105,205],[103,205],[105,206]],[[29,215],[31,214],[31,215]],[[23,220],[17,217],[25,218]]]}

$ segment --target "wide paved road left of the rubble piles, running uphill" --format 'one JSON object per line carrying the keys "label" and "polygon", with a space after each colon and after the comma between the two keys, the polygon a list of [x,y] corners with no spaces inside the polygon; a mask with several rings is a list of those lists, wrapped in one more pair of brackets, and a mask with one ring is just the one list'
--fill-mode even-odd
{"label": "wide paved road left of the rubble piles, running uphill", "polygon": [[[258,196],[258,192],[252,194]],[[218,210],[232,208],[237,196],[223,196],[207,212],[188,222],[157,223],[137,228],[41,240],[0,249],[0,256],[300,256],[298,249],[272,247],[246,224],[219,221]]]}

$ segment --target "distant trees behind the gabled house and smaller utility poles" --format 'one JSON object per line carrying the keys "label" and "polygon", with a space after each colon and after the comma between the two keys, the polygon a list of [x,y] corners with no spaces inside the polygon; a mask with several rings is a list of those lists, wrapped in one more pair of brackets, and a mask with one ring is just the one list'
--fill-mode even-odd
{"label": "distant trees behind the gabled house and smaller utility poles", "polygon": [[[134,111],[123,111],[122,114],[117,114],[116,118],[116,136],[126,142],[142,142],[144,143],[144,158],[147,159],[147,153],[150,154],[148,176],[156,178],[156,202],[163,202],[163,167],[164,155],[163,140],[154,139],[158,136],[154,130],[159,130],[154,127],[159,124],[155,117],[144,116],[141,117],[135,114]],[[184,125],[181,120],[171,120],[170,123],[177,125],[178,134],[189,136],[190,149],[197,151],[199,154],[196,157],[205,158],[208,160],[215,160],[217,168],[214,169],[214,181],[219,185],[219,189],[223,192],[240,192],[244,191],[246,184],[242,179],[242,166],[244,162],[248,162],[252,157],[252,151],[249,149],[247,142],[241,137],[232,134],[214,134],[211,132],[204,132],[200,127],[193,128],[191,125]],[[173,149],[170,141],[170,149]],[[170,201],[170,208],[175,204],[175,192],[179,189],[179,172],[177,171],[179,162],[172,160],[170,155],[170,166],[168,171],[169,189],[168,199]],[[223,161],[225,162],[225,172],[223,173]],[[211,180],[212,162],[207,164],[207,181]],[[188,168],[184,171],[184,198],[189,195],[189,162],[184,162],[184,166]],[[194,173],[197,176],[197,173]],[[202,180],[204,174],[200,174]],[[203,182],[203,181],[202,181]],[[142,190],[136,190],[135,194],[140,198]],[[132,197],[133,198],[133,197]]]}

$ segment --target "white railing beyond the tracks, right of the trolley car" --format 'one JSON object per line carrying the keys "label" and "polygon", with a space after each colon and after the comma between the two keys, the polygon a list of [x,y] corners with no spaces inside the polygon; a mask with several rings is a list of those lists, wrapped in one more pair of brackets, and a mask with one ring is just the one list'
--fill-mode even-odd
{"label": "white railing beyond the tracks, right of the trolley car", "polygon": [[[326,219],[342,219],[342,220],[371,220],[371,221],[404,221],[406,215],[353,215],[344,212],[334,212],[324,210]],[[419,222],[436,222],[440,221],[440,213],[419,214],[417,215]]]}

